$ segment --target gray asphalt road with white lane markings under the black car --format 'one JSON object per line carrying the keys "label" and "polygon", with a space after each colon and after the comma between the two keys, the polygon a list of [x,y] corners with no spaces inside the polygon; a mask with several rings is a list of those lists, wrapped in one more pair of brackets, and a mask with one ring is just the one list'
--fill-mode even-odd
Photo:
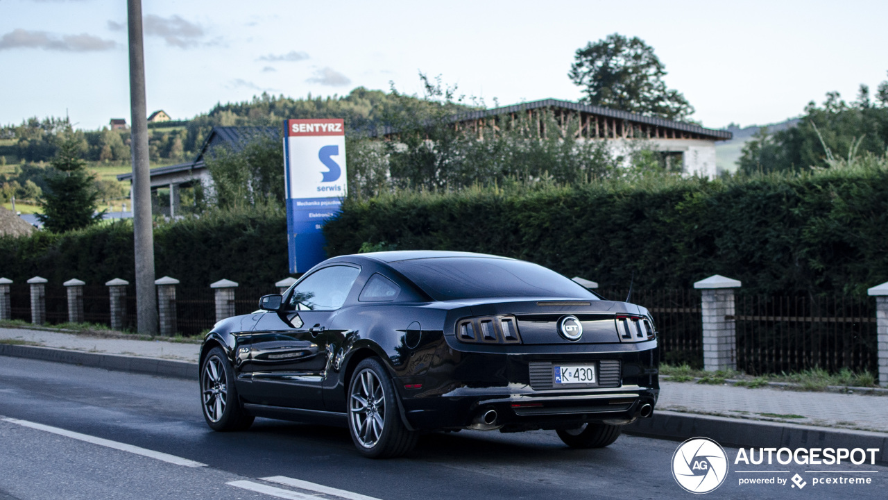
{"label": "gray asphalt road with white lane markings under the black car", "polygon": [[[257,419],[250,431],[210,431],[194,382],[29,359],[0,357],[0,415],[0,500],[273,500],[275,496],[249,489],[270,487],[279,488],[268,491],[283,497],[351,495],[355,500],[359,496],[354,494],[381,500],[699,498],[672,478],[670,462],[678,445],[672,441],[624,435],[609,448],[573,450],[551,431],[462,431],[426,435],[405,458],[369,460],[353,451],[345,429]],[[30,423],[85,437],[35,429]],[[87,442],[94,438],[205,466],[173,464]],[[725,451],[732,459],[736,456],[733,448]],[[888,482],[888,468],[880,466],[866,466],[874,472],[831,475],[808,473],[801,465],[781,466],[791,472],[776,476],[788,479],[798,472],[805,478],[807,486],[800,491],[791,482],[739,485],[750,476],[773,477],[744,475],[736,472],[740,468],[732,464],[725,483],[707,496],[884,499]],[[274,476],[314,486],[261,480]],[[813,484],[814,478],[837,476],[868,477],[871,484]],[[323,487],[342,491],[334,495]]]}

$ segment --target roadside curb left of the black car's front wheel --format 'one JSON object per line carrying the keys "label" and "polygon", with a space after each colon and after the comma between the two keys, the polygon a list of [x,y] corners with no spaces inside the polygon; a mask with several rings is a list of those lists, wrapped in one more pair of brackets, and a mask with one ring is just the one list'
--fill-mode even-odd
{"label": "roadside curb left of the black car's front wheel", "polygon": [[189,380],[197,380],[198,374],[197,363],[189,361],[143,358],[123,354],[102,354],[99,352],[67,351],[65,349],[36,345],[0,343],[0,356],[41,359],[57,363],[83,365],[84,367],[105,368],[106,370],[119,372],[169,376]]}

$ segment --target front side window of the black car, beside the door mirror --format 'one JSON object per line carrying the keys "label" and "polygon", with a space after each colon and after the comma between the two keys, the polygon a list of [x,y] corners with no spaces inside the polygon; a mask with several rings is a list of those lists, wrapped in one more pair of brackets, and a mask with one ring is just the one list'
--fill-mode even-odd
{"label": "front side window of the black car, beside the door mirror", "polygon": [[342,307],[361,270],[352,266],[330,266],[313,272],[293,289],[291,310],[335,310]]}

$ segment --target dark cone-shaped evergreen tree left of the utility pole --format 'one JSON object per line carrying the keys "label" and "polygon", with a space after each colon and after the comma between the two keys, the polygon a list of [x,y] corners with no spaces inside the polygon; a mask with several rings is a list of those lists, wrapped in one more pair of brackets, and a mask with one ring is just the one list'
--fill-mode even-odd
{"label": "dark cone-shaped evergreen tree left of the utility pole", "polygon": [[46,179],[40,205],[43,214],[37,218],[52,232],[65,232],[85,228],[102,219],[102,211],[96,214],[96,198],[93,175],[86,170],[81,158],[81,141],[74,134],[66,133],[59,141],[59,149],[50,162],[58,173]]}

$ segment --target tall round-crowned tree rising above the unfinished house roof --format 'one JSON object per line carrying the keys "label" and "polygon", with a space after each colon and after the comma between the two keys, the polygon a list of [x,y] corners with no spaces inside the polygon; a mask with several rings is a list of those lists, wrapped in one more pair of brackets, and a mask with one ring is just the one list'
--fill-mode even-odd
{"label": "tall round-crowned tree rising above the unfinished house roof", "polygon": [[654,48],[618,33],[577,49],[568,77],[583,87],[583,102],[632,113],[686,120],[694,114],[685,96],[666,88]]}

